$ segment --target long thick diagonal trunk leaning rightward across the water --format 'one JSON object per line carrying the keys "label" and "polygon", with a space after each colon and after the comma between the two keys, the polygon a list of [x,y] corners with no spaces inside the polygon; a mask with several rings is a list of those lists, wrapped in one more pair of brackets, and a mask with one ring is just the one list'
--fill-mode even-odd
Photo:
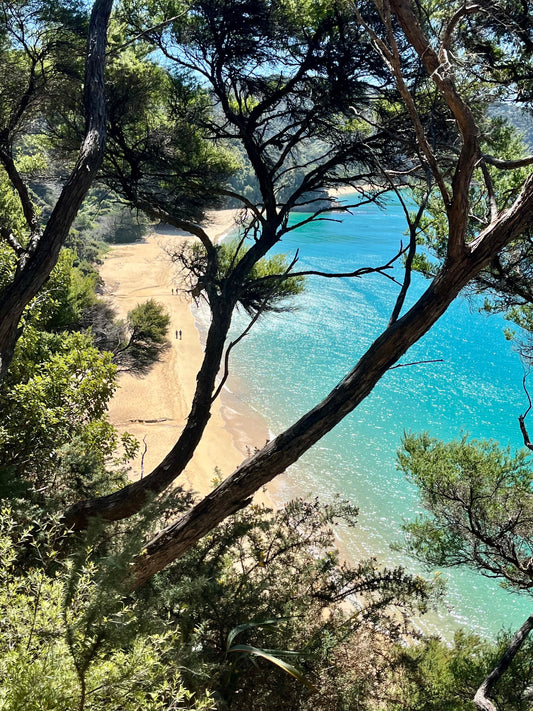
{"label": "long thick diagonal trunk leaning rightward across the water", "polygon": [[531,224],[533,176],[513,207],[484,230],[463,256],[447,260],[419,301],[379,336],[355,368],[319,405],[243,462],[217,489],[146,545],[131,570],[130,586],[142,585],[227,516],[246,506],[256,491],[297,461],[354,410],[387,370],[430,330],[461,289]]}

